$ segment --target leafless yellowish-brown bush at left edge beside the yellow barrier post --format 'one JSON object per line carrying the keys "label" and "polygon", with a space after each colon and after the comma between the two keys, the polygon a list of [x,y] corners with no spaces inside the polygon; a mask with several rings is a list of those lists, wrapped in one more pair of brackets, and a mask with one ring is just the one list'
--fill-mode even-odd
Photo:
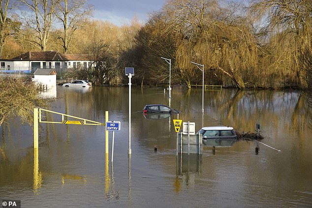
{"label": "leafless yellowish-brown bush at left edge beside the yellow barrier post", "polygon": [[33,123],[33,108],[45,107],[46,100],[38,97],[37,87],[29,80],[0,78],[0,125],[9,118],[20,117]]}

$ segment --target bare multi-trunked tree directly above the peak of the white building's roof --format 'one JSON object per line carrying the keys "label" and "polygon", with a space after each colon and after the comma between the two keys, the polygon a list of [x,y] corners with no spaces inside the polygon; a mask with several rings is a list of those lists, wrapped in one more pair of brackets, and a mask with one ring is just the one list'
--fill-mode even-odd
{"label": "bare multi-trunked tree directly above the peak of the white building's roof", "polygon": [[52,20],[55,17],[55,8],[58,0],[21,0],[30,13],[24,13],[25,24],[35,31],[35,40],[31,40],[42,51],[47,50]]}

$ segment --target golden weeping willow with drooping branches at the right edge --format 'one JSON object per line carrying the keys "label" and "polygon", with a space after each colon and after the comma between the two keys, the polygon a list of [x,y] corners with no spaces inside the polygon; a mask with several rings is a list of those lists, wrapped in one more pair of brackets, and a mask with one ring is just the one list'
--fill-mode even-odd
{"label": "golden weeping willow with drooping branches at the right edge", "polygon": [[272,68],[286,82],[306,87],[300,54],[310,47],[312,35],[311,0],[254,0],[250,12],[269,32],[273,48]]}

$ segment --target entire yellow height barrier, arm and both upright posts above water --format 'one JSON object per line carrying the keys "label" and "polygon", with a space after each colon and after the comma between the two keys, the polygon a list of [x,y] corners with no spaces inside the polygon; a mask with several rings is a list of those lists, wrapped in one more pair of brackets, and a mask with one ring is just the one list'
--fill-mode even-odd
{"label": "entire yellow height barrier, arm and both upright posts above water", "polygon": [[[49,112],[53,114],[60,115],[60,121],[47,121],[42,120],[42,112]],[[66,119],[65,119],[66,118]],[[68,120],[68,118],[72,118],[75,120]],[[105,120],[108,121],[108,111],[105,112]],[[94,120],[82,119],[75,116],[70,116],[67,114],[62,114],[54,111],[49,111],[41,108],[33,109],[33,148],[38,148],[38,130],[39,130],[39,122],[40,123],[60,123],[60,124],[79,124],[79,125],[99,125],[105,126],[105,123],[100,123]],[[108,131],[105,130],[105,152],[108,154]]]}

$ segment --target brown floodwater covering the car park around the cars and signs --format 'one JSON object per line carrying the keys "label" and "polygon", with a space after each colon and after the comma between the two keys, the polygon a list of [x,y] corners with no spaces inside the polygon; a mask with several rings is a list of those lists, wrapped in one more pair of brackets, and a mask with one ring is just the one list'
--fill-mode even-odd
{"label": "brown floodwater covering the car park around the cars and signs", "polygon": [[[57,87],[48,110],[84,119],[121,122],[115,132],[114,160],[105,154],[104,126],[40,123],[39,148],[33,130],[12,119],[0,127],[0,200],[33,207],[128,208],[311,208],[312,109],[300,91],[206,90],[132,87],[131,150],[128,157],[128,88]],[[179,119],[201,126],[230,125],[255,132],[261,142],[204,146],[202,155],[176,156],[171,117],[146,119],[146,104],[181,110]],[[62,117],[42,113],[42,120]],[[72,120],[67,118],[68,120]],[[154,146],[157,151],[154,151]]]}

